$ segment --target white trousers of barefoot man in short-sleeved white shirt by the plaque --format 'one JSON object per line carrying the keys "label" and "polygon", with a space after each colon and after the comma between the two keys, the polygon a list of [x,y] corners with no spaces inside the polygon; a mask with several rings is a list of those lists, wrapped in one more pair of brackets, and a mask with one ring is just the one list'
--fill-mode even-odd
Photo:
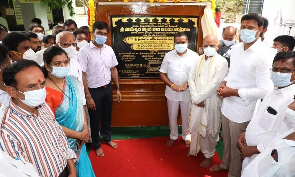
{"label": "white trousers of barefoot man in short-sleeved white shirt by the plaque", "polygon": [[170,138],[172,140],[177,140],[178,138],[177,117],[179,104],[182,119],[182,139],[186,141],[190,138],[190,133],[188,132],[190,101],[173,101],[167,98]]}

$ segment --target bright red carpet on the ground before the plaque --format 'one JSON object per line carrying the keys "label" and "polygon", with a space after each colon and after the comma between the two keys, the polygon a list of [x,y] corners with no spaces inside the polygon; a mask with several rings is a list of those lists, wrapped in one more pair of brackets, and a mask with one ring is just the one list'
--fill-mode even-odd
{"label": "bright red carpet on the ground before the plaque", "polygon": [[[227,177],[227,173],[212,173],[210,168],[200,167],[204,156],[187,157],[181,138],[172,146],[166,145],[168,137],[148,139],[114,140],[117,149],[103,144],[104,157],[90,151],[90,160],[97,177]],[[220,164],[217,153],[212,165]],[[210,166],[210,167],[211,167]]]}

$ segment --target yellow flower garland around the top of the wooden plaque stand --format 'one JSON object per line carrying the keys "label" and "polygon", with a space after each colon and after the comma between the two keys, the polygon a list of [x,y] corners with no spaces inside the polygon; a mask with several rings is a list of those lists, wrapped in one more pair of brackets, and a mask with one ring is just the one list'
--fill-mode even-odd
{"label": "yellow flower garland around the top of the wooden plaque stand", "polygon": [[[108,1],[112,1],[112,0],[108,0]],[[123,0],[124,2],[128,2],[130,0]],[[150,3],[153,3],[154,0],[148,0]],[[157,2],[161,2],[161,3],[165,3],[166,0],[155,0]],[[173,0],[173,2],[177,3],[180,1],[191,1],[191,0]],[[215,8],[216,8],[216,0],[194,0],[194,1],[203,1],[203,2],[208,2],[211,1],[211,9],[214,11],[213,13],[213,17],[215,18]],[[95,6],[94,6],[94,0],[89,0],[89,29],[90,29],[90,33],[92,32],[92,25],[95,22]],[[91,34],[91,39],[93,39],[93,35]]]}

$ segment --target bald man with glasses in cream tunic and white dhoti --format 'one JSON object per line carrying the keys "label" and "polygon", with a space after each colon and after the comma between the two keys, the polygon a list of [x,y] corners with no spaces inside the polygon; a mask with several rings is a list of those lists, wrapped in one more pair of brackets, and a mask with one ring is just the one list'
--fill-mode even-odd
{"label": "bald man with glasses in cream tunic and white dhoti", "polygon": [[189,91],[191,110],[188,130],[191,132],[191,147],[188,155],[204,154],[202,167],[208,167],[219,141],[221,99],[217,89],[228,73],[227,60],[217,54],[219,48],[215,35],[204,38],[204,54],[191,67]]}

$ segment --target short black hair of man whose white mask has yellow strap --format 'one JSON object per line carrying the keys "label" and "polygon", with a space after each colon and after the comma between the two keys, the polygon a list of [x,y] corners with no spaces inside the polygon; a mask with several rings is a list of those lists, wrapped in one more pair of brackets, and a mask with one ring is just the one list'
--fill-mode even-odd
{"label": "short black hair of man whose white mask has yellow strap", "polygon": [[11,32],[3,38],[2,43],[9,49],[9,51],[17,51],[17,47],[19,46],[19,44],[25,40],[30,41],[30,39],[24,34]]}

